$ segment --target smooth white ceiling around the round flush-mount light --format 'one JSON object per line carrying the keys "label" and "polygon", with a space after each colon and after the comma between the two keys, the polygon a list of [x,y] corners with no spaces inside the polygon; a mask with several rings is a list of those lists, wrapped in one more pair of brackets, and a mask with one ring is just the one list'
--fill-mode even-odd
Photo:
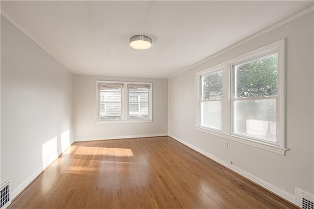
{"label": "smooth white ceiling around the round flush-mount light", "polygon": [[[75,74],[168,78],[313,1],[3,1],[1,13]],[[148,35],[149,50],[129,46]]]}

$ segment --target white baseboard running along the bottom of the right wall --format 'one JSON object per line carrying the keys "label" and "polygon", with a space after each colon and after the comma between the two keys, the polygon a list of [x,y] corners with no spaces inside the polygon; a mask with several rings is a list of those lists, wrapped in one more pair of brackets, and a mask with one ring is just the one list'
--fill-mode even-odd
{"label": "white baseboard running along the bottom of the right wall", "polygon": [[[204,151],[204,150],[202,150],[202,149],[200,149],[200,148],[198,148],[198,147],[196,147],[196,146],[194,146],[194,145],[192,145],[192,144],[190,144],[190,143],[188,143],[188,142],[186,142],[186,141],[184,141],[184,140],[182,140],[182,139],[180,139],[180,138],[178,138],[178,137],[176,137],[176,136],[174,136],[172,134],[168,134],[168,135],[170,137],[172,137],[173,139],[181,142],[182,144],[188,146],[189,148],[191,148],[191,149],[193,149],[193,150],[203,154],[206,157],[209,157],[210,159],[218,162],[219,164],[221,164],[221,165],[223,165],[223,166],[225,166],[225,167],[235,171],[236,173],[240,174],[241,176],[251,180],[254,183],[259,184],[260,186],[264,187],[265,189],[267,189],[267,190],[277,194],[278,196],[288,200],[289,202],[293,203],[294,205],[297,205],[297,206],[302,208],[302,204],[300,205],[300,200],[299,200],[300,198],[297,199],[297,192],[301,193],[300,191],[302,191],[302,190],[296,188],[295,195],[292,195],[292,194],[286,192],[285,190],[282,190],[282,189],[280,189],[280,188],[278,188],[278,187],[276,187],[276,186],[274,186],[274,185],[272,185],[270,183],[267,183],[267,182],[263,181],[262,179],[254,176],[254,175],[252,175],[252,174],[250,174],[250,173],[248,173],[248,172],[246,172],[246,171],[244,171],[244,170],[242,170],[242,169],[240,169],[240,168],[238,168],[238,167],[236,167],[236,166],[234,166],[232,164],[229,164],[227,161],[222,160],[219,157],[215,157],[215,156],[209,154],[208,152],[206,152],[206,151]],[[308,195],[310,197],[311,196],[313,197],[313,195],[311,195],[311,194],[308,194]],[[299,196],[301,196],[301,195],[299,195]]]}

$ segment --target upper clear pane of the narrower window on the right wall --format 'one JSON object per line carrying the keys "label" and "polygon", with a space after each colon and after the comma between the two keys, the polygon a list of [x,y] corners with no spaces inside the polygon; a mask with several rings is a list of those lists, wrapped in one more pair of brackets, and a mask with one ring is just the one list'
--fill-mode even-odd
{"label": "upper clear pane of the narrower window on the right wall", "polygon": [[201,77],[202,100],[222,99],[222,70]]}

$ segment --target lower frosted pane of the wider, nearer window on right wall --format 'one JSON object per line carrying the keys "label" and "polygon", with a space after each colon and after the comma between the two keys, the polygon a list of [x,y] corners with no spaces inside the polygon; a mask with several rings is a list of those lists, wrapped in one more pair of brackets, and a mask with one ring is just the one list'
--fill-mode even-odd
{"label": "lower frosted pane of the wider, nearer window on right wall", "polygon": [[276,99],[235,101],[234,132],[276,142]]}

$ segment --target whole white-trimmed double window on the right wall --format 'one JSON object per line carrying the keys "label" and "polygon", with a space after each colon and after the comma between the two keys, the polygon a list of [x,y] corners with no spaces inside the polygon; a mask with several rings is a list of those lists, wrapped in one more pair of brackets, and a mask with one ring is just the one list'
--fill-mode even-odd
{"label": "whole white-trimmed double window on the right wall", "polygon": [[196,129],[285,155],[285,40],[196,74]]}

